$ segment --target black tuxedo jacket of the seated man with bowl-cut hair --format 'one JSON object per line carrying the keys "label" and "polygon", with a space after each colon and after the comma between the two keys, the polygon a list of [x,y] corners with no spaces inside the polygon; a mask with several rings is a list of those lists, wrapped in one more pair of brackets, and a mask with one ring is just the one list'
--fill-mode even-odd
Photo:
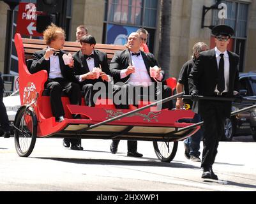
{"label": "black tuxedo jacket of the seated man with bowl-cut hair", "polygon": [[[107,75],[110,75],[109,71],[109,64],[107,62],[107,54],[105,52],[100,52],[99,50],[94,50],[94,66],[97,68],[102,67],[102,71],[105,72]],[[75,73],[75,77],[79,80],[79,75],[84,75],[89,72],[89,68],[87,65],[87,61],[85,56],[82,54],[81,51],[77,51],[73,54],[74,59],[74,67],[73,71]],[[102,78],[99,77],[98,79],[94,80],[84,80],[80,82],[80,85],[84,84],[95,84],[96,82],[103,82]],[[104,81],[104,83],[107,83]]]}

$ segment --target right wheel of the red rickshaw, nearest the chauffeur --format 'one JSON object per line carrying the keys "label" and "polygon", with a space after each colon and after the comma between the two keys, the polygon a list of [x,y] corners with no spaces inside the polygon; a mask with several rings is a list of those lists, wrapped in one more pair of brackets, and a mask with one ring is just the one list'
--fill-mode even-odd
{"label": "right wheel of the red rickshaw, nearest the chauffeur", "polygon": [[178,142],[153,142],[154,152],[160,161],[170,162],[177,152]]}

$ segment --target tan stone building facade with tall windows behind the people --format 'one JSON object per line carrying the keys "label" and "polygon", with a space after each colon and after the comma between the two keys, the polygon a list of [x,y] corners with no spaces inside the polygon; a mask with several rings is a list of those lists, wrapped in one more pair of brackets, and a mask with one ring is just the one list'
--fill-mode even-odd
{"label": "tan stone building facade with tall windows behind the people", "polygon": [[[163,0],[164,1],[164,0]],[[36,1],[23,1],[36,3]],[[177,77],[184,62],[190,59],[192,47],[198,41],[214,47],[209,25],[227,24],[234,28],[230,50],[240,55],[239,71],[256,70],[256,1],[218,1],[227,5],[227,18],[218,18],[220,10],[210,9],[204,15],[203,6],[211,8],[215,0],[172,0],[170,9],[169,77]],[[218,6],[217,4],[217,6]],[[149,50],[157,57],[161,49],[159,0],[72,0],[68,6],[67,40],[75,41],[75,30],[84,24],[98,43],[124,44],[129,33],[143,27],[149,31]],[[18,10],[19,7],[15,10]],[[0,1],[0,71],[4,70],[7,4]],[[202,25],[206,27],[202,27]],[[13,64],[13,66],[15,66]],[[17,70],[11,68],[11,70]]]}

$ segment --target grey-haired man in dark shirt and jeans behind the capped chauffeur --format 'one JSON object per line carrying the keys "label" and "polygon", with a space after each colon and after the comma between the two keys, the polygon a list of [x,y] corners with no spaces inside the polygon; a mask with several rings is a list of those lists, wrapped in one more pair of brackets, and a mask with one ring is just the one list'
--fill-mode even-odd
{"label": "grey-haired man in dark shirt and jeans behind the capped chauffeur", "polygon": [[[188,75],[190,74],[192,67],[195,65],[195,61],[199,57],[199,53],[206,50],[209,50],[209,48],[204,42],[195,43],[195,45],[193,46],[193,55],[191,59],[183,65],[179,73],[179,79],[177,80],[177,85],[176,85],[177,94],[183,91],[185,95],[189,94]],[[184,108],[184,105],[188,106],[188,109],[190,109],[190,107],[192,108],[193,102],[190,99],[177,98],[176,109]],[[200,115],[197,113],[195,113],[195,116],[193,117],[193,119],[186,120],[186,122],[192,122],[192,123],[197,123],[200,121],[201,121]],[[201,138],[202,138],[202,128],[200,128],[199,131],[197,131],[197,133],[195,133],[194,135],[184,140],[184,147],[185,147],[184,154],[187,159],[190,159],[191,161],[197,161],[197,162],[201,161],[199,158]]]}

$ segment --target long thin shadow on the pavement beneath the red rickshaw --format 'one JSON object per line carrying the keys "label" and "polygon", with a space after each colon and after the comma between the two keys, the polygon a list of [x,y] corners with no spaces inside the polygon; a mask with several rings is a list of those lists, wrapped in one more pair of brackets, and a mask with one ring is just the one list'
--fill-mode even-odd
{"label": "long thin shadow on the pavement beneath the red rickshaw", "polygon": [[75,159],[58,157],[31,157],[36,159],[49,159],[76,164],[96,164],[96,165],[117,165],[117,166],[163,166],[172,168],[199,168],[190,164],[182,164],[174,161],[173,163],[162,163],[159,161],[134,161],[134,160],[115,160],[115,159]]}

